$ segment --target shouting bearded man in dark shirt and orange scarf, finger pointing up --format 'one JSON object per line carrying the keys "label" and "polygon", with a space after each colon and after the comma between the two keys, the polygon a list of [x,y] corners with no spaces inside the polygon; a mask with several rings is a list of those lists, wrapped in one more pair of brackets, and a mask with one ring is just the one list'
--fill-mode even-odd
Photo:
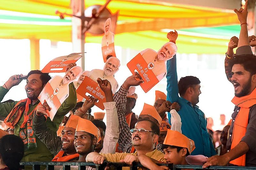
{"label": "shouting bearded man in dark shirt and orange scarf, finger pointing up", "polygon": [[[238,48],[250,47],[247,29],[247,5],[239,11],[235,9],[241,23]],[[249,53],[249,54],[248,54]],[[251,53],[251,54],[250,54]],[[251,49],[247,54],[237,55],[228,62],[228,72],[231,70],[230,81],[235,88],[232,99],[235,109],[232,114],[231,126],[227,141],[228,152],[221,156],[213,156],[207,160],[203,168],[212,165],[224,166],[228,163],[236,166],[256,166],[256,56]]]}

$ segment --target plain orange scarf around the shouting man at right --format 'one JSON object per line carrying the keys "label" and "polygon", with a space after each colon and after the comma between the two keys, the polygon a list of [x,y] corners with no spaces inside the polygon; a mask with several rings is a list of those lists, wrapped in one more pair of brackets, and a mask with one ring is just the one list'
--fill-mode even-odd
{"label": "plain orange scarf around the shouting man at right", "polygon": [[[237,146],[237,144],[245,136],[249,120],[250,107],[256,104],[256,88],[252,91],[250,95],[243,97],[234,97],[232,99],[232,103],[234,103],[237,107],[240,107],[240,110],[234,122],[231,149]],[[238,166],[245,166],[245,155],[246,154],[230,161],[230,163]]]}

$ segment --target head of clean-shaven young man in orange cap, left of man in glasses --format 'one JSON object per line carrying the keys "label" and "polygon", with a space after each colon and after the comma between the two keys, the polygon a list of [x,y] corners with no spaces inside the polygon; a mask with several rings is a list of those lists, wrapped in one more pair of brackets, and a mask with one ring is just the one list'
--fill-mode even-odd
{"label": "head of clean-shaven young man in orange cap, left of man in glasses", "polygon": [[94,146],[99,141],[99,129],[91,121],[79,117],[74,136],[75,150],[79,154],[78,162],[84,162],[87,154],[94,151]]}

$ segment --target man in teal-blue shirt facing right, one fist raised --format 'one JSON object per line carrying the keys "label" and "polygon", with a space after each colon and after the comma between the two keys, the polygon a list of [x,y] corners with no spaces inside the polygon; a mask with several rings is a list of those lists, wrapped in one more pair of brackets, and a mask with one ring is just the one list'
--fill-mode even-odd
{"label": "man in teal-blue shirt facing right, one fist raised", "polygon": [[[174,42],[178,37],[177,32],[169,32],[167,38]],[[167,61],[167,100],[179,103],[178,111],[182,126],[182,134],[195,142],[196,149],[191,155],[204,155],[207,157],[216,155],[213,143],[206,129],[205,114],[196,105],[199,102],[200,81],[197,77],[182,77],[178,82],[176,55]],[[180,94],[180,96],[178,95]],[[171,115],[168,113],[168,117]],[[169,119],[170,123],[170,119]]]}

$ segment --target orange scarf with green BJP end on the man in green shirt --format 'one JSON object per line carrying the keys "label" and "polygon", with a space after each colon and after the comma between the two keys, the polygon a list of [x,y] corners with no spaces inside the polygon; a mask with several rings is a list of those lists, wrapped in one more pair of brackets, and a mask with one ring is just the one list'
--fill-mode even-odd
{"label": "orange scarf with green BJP end on the man in green shirt", "polygon": [[[19,137],[23,140],[24,145],[27,144],[27,148],[37,148],[35,134],[32,129],[32,120],[34,117],[34,110],[28,113],[29,105],[31,104],[30,99],[23,99],[19,101],[9,115],[4,119],[4,123],[10,128],[15,128],[15,125],[19,122],[23,112],[24,112],[24,121],[19,129]],[[26,127],[27,124],[27,127]]]}

